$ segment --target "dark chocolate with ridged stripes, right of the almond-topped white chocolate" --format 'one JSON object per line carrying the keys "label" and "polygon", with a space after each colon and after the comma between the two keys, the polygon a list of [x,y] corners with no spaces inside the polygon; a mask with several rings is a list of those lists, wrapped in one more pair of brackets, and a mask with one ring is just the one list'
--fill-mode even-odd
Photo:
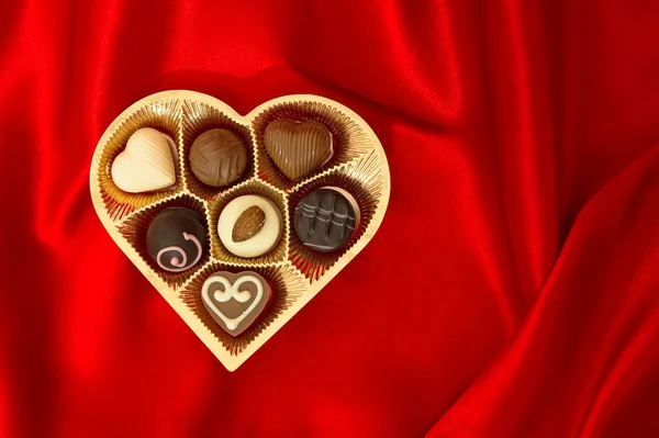
{"label": "dark chocolate with ridged stripes, right of the almond-topped white chocolate", "polygon": [[330,252],[346,245],[359,222],[355,199],[338,188],[316,189],[306,194],[294,213],[295,234],[308,247]]}

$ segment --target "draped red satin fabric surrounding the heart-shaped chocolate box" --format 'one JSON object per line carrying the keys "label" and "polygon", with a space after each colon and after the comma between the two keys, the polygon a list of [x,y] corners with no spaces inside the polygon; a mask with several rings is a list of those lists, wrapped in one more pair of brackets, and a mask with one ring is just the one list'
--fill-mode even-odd
{"label": "draped red satin fabric surrounding the heart-shaped chocolate box", "polygon": [[[0,436],[659,436],[658,2],[0,9]],[[167,89],[325,96],[389,157],[375,239],[234,373],[90,201]]]}

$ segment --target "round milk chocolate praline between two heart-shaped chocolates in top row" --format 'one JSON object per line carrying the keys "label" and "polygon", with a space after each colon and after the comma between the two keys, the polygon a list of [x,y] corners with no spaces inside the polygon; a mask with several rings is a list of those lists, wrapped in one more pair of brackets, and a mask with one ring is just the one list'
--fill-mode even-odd
{"label": "round milk chocolate praline between two heart-shaped chocolates in top row", "polygon": [[228,186],[241,178],[245,167],[245,145],[228,130],[209,130],[197,137],[190,147],[190,169],[204,184]]}

